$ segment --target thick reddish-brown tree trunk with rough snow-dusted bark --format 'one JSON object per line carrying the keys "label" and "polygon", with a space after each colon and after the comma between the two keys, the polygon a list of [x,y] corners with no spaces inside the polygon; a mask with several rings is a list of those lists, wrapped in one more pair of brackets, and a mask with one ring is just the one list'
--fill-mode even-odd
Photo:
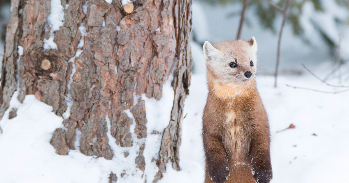
{"label": "thick reddish-brown tree trunk with rough snow-dusted bark", "polygon": [[[65,128],[56,129],[51,139],[58,154],[80,148],[85,155],[111,160],[116,158],[111,148],[115,142],[125,148],[125,158],[132,149],[138,153],[133,162],[144,172],[148,165],[143,151],[152,130],[147,124],[162,122],[147,121],[146,98],[161,100],[163,85],[173,76],[173,107],[165,114],[170,121],[163,131],[151,133],[161,139],[154,154],[156,182],[166,162],[180,170],[182,111],[192,68],[192,2],[131,3],[124,7],[121,0],[12,0],[0,119],[10,110],[15,91],[21,102],[35,94],[65,119]],[[74,146],[76,136],[80,147]],[[110,177],[112,182],[120,175]]]}

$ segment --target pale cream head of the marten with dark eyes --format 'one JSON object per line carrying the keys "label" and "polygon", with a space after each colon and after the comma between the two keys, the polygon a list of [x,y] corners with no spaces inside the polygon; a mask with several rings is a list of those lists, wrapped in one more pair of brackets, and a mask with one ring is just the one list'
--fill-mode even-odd
{"label": "pale cream head of the marten with dark eyes", "polygon": [[234,40],[203,44],[203,53],[209,79],[221,85],[245,85],[255,77],[257,70],[257,42]]}

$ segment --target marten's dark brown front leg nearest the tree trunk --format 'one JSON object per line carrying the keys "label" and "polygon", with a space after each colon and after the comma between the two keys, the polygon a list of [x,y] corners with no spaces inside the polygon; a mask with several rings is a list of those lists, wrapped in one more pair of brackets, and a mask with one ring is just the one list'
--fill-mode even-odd
{"label": "marten's dark brown front leg nearest the tree trunk", "polygon": [[209,178],[214,183],[224,182],[229,176],[229,170],[228,156],[221,139],[214,134],[203,135],[203,147]]}

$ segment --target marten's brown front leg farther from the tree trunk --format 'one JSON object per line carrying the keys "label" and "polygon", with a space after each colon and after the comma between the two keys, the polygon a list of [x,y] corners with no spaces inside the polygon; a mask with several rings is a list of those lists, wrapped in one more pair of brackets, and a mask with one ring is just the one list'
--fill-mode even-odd
{"label": "marten's brown front leg farther from the tree trunk", "polygon": [[251,139],[250,157],[253,177],[259,183],[269,183],[273,178],[270,162],[269,129],[255,129]]}

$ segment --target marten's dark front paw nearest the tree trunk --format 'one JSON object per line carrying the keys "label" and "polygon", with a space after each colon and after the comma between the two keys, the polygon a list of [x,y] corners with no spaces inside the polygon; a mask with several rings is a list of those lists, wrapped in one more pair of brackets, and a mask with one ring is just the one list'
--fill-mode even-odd
{"label": "marten's dark front paw nearest the tree trunk", "polygon": [[228,180],[229,175],[228,164],[208,166],[208,176],[214,183],[223,183]]}

